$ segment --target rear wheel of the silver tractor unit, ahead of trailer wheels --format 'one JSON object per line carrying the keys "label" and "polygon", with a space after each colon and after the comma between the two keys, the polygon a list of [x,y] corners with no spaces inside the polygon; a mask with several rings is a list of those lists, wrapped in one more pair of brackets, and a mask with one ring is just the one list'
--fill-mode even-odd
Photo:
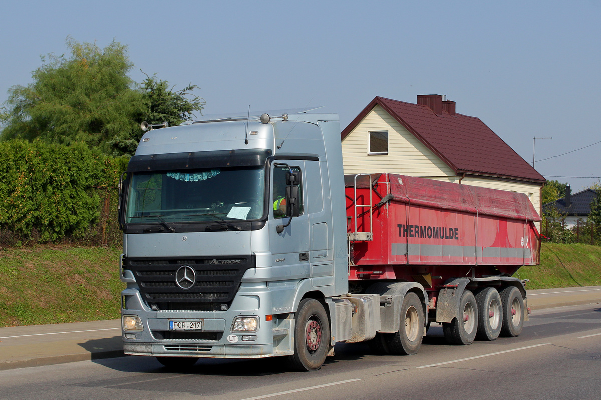
{"label": "rear wheel of the silver tractor unit, ahead of trailer wheels", "polygon": [[417,353],[424,337],[424,310],[415,293],[407,293],[401,307],[398,332],[385,337],[391,354],[412,356]]}

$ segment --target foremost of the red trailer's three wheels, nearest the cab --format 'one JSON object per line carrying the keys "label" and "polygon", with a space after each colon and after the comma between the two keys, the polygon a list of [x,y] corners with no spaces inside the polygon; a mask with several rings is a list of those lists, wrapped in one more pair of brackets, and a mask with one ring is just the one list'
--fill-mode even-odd
{"label": "foremost of the red trailer's three wheels, nearest the cab", "polygon": [[474,294],[463,291],[457,317],[442,324],[442,332],[450,344],[468,345],[474,342],[478,330],[478,305]]}

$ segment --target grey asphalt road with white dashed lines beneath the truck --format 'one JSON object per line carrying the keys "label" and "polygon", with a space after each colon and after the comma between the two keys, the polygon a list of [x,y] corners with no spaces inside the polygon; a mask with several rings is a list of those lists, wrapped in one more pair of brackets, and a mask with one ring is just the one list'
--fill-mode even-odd
{"label": "grey asphalt road with white dashed lines beneath the truck", "polygon": [[200,360],[169,371],[121,357],[0,372],[0,399],[599,399],[601,306],[533,311],[519,338],[445,344],[433,326],[416,356],[337,345],[317,372],[277,359]]}

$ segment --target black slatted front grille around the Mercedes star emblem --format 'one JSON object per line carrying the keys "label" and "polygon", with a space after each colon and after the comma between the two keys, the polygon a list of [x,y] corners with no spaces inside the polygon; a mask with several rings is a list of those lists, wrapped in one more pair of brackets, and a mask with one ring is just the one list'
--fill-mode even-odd
{"label": "black slatted front grille around the Mercedes star emblem", "polygon": [[[242,276],[254,265],[250,256],[185,260],[125,258],[124,261],[148,305],[161,310],[177,308],[181,311],[219,311],[222,305],[231,305]],[[196,282],[188,290],[178,287],[175,282],[175,273],[182,266],[189,266],[195,272]]]}

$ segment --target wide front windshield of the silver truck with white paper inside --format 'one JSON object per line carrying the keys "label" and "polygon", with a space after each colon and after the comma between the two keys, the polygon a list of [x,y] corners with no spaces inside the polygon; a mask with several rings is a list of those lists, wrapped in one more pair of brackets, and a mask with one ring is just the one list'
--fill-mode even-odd
{"label": "wide front windshield of the silver truck with white paper inside", "polygon": [[263,216],[264,169],[133,173],[125,222],[250,221]]}

